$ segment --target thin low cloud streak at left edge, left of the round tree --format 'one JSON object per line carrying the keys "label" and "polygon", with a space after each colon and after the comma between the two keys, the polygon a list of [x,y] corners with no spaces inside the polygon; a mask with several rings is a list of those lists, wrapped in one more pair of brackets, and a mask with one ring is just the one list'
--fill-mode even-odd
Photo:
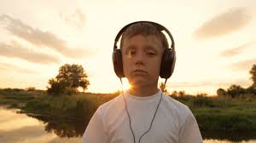
{"label": "thin low cloud streak at left edge, left of the round tree", "polygon": [[23,68],[23,67],[13,66],[13,65],[1,63],[1,62],[0,62],[0,70],[1,71],[3,71],[3,70],[15,71],[15,72],[21,72],[21,73],[27,73],[27,74],[38,73],[36,71],[28,70],[28,69]]}

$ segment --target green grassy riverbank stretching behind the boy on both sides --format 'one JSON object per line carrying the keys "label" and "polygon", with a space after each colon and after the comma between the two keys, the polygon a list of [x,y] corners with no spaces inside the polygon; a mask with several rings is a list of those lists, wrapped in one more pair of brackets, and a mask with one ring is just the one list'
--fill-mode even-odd
{"label": "green grassy riverbank stretching behind the boy on both sides", "polygon": [[[117,95],[81,93],[54,97],[43,90],[1,89],[0,105],[18,108],[45,122],[65,118],[67,122],[76,120],[87,125],[96,108]],[[256,133],[256,100],[252,96],[231,99],[184,95],[172,98],[189,106],[201,131]],[[81,134],[85,127],[80,129]]]}

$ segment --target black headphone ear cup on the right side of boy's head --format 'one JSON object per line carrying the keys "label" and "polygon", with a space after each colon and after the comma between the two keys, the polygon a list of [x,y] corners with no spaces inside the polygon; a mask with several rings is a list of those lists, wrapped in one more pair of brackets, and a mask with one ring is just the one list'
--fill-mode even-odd
{"label": "black headphone ear cup on the right side of boy's head", "polygon": [[169,78],[172,76],[176,62],[176,53],[175,50],[166,49],[164,51],[161,66],[160,66],[160,77]]}

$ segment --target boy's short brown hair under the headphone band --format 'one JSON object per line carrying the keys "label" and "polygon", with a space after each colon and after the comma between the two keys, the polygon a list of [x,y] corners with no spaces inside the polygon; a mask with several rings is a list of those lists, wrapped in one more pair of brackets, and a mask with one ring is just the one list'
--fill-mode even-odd
{"label": "boy's short brown hair under the headphone band", "polygon": [[167,49],[169,47],[168,41],[166,39],[166,36],[164,33],[159,31],[154,25],[148,23],[148,22],[139,22],[136,24],[133,24],[129,26],[123,33],[120,41],[120,49],[123,47],[123,43],[125,38],[131,38],[136,35],[143,35],[144,37],[149,35],[154,35],[158,37],[160,40],[160,43],[162,44],[162,47],[164,49]]}

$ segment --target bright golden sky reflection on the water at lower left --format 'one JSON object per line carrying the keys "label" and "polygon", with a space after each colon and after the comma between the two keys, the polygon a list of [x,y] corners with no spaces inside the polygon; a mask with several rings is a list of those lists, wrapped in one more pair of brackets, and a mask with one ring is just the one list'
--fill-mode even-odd
{"label": "bright golden sky reflection on the water at lower left", "polygon": [[80,137],[60,138],[54,133],[45,131],[45,124],[38,119],[17,114],[17,110],[10,110],[0,106],[0,142],[4,143],[80,143]]}

